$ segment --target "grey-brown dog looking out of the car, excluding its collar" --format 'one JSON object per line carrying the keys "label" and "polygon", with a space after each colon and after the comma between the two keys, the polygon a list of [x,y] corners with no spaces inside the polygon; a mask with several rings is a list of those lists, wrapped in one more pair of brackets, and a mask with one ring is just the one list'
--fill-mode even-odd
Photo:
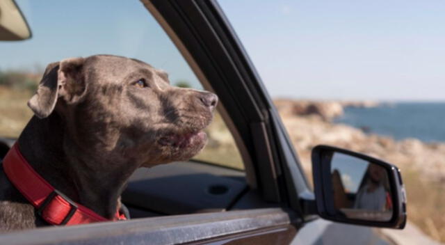
{"label": "grey-brown dog looking out of the car, excluding its collar", "polygon": [[[0,230],[60,224],[42,214],[61,197],[69,212],[80,205],[117,220],[131,173],[200,152],[217,102],[213,93],[171,86],[167,73],[133,58],[96,55],[49,64],[28,102],[34,116],[15,148],[57,198],[45,195],[39,207],[31,204],[6,173],[7,155],[0,168]],[[72,215],[63,214],[63,223]]]}

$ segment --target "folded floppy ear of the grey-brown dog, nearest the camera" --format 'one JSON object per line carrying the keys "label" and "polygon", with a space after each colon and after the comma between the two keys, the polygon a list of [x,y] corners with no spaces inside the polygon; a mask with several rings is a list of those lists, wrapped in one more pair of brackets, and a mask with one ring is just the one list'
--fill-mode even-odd
{"label": "folded floppy ear of the grey-brown dog, nearest the camera", "polygon": [[86,90],[81,72],[83,61],[83,58],[68,58],[47,66],[35,95],[28,102],[35,116],[49,116],[54,111],[58,97],[63,97],[68,104],[82,97]]}

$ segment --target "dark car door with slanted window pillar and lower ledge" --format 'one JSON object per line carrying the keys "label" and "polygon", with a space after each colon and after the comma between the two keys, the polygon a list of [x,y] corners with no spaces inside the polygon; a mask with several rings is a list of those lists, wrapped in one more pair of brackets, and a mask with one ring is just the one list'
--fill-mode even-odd
{"label": "dark car door with slanted window pillar and lower ledge", "polygon": [[[215,92],[240,149],[248,190],[227,212],[156,216],[42,228],[1,236],[4,244],[379,244],[369,228],[314,216],[314,195],[278,113],[216,1],[143,0],[191,66]],[[351,239],[346,234],[355,230]],[[372,243],[371,243],[372,244]]]}

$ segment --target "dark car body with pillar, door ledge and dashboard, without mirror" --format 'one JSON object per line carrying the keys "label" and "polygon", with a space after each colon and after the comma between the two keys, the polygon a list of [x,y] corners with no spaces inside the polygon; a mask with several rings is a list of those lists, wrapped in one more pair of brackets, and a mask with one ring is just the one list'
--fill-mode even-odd
{"label": "dark car body with pillar, door ledge and dashboard, without mirror", "polygon": [[391,244],[369,223],[320,219],[280,116],[216,1],[142,2],[220,97],[245,172],[200,161],[140,169],[122,195],[140,219],[12,232],[2,244]]}

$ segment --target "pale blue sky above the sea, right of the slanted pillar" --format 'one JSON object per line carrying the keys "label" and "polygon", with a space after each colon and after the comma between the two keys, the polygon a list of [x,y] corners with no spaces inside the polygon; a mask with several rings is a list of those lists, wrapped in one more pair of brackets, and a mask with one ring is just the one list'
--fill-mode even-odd
{"label": "pale blue sky above the sea, right of the slanted pillar", "polygon": [[445,1],[220,2],[272,95],[445,99]]}

